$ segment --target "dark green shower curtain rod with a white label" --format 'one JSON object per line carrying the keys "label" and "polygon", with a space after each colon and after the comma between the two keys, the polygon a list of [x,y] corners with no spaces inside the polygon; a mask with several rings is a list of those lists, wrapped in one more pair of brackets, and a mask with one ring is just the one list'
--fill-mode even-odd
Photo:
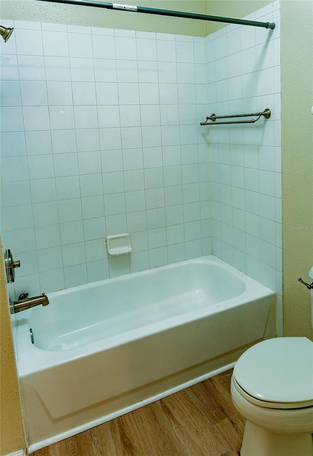
{"label": "dark green shower curtain rod with a white label", "polygon": [[184,13],[181,11],[171,11],[167,9],[146,8],[144,6],[123,5],[119,3],[105,3],[92,0],[38,0],[50,1],[54,3],[67,3],[70,5],[98,6],[99,8],[118,9],[122,11],[134,11],[137,13],[158,14],[161,16],[173,16],[178,18],[199,19],[201,21],[225,22],[231,24],[253,25],[255,27],[275,28],[275,23],[246,21],[244,19],[221,18],[219,16],[207,16],[206,14]]}

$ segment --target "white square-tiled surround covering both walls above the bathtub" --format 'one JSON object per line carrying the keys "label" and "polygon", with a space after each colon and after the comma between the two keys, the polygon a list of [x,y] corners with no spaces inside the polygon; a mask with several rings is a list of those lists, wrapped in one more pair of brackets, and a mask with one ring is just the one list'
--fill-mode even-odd
{"label": "white square-tiled surround covering both walls above the bathtub", "polygon": [[[278,8],[248,17],[273,31],[206,38],[14,21],[1,231],[16,294],[212,252],[282,294]],[[200,126],[265,108],[255,125]],[[123,232],[132,252],[108,258],[105,236]]]}

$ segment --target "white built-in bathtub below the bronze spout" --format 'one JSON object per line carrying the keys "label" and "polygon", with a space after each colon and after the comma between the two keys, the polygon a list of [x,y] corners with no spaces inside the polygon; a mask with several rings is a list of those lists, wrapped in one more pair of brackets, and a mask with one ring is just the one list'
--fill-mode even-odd
{"label": "white built-in bathtub below the bronze spout", "polygon": [[48,297],[15,316],[29,453],[227,370],[275,337],[274,293],[214,256]]}

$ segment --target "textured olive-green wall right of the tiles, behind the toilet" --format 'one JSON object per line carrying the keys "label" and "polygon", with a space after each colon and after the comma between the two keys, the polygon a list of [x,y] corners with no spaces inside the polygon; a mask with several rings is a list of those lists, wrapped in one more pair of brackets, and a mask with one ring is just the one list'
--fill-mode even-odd
{"label": "textured olive-green wall right of the tiles, behind the toilet", "polygon": [[[313,1],[281,2],[283,268],[286,336],[313,341]],[[300,69],[301,68],[301,69]]]}

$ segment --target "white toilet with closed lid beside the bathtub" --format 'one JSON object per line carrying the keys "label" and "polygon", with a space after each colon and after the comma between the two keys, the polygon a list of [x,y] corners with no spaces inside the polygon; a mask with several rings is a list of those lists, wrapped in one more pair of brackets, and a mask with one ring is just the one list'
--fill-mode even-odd
{"label": "white toilet with closed lid beside the bathtub", "polygon": [[246,418],[241,456],[313,456],[312,341],[279,337],[248,348],[231,397]]}

